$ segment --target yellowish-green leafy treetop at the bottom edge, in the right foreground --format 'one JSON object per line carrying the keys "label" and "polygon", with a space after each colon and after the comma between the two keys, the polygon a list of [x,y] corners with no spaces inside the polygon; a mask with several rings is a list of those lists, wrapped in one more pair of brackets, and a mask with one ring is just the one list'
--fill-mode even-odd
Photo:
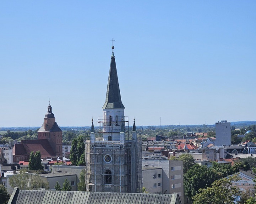
{"label": "yellowish-green leafy treetop at the bottom edge, in the right foreground", "polygon": [[234,204],[235,198],[240,194],[239,188],[232,186],[232,181],[235,180],[238,181],[239,178],[232,176],[214,181],[206,189],[199,189],[199,193],[192,198],[193,204]]}

